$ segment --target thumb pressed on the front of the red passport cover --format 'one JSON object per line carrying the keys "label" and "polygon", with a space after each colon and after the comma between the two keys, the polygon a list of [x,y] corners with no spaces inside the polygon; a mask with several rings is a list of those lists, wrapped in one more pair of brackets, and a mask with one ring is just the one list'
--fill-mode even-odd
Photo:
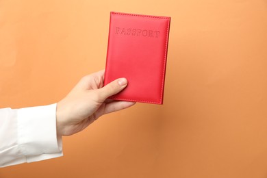
{"label": "thumb pressed on the front of the red passport cover", "polygon": [[110,84],[107,84],[103,88],[99,89],[99,99],[101,99],[101,101],[103,102],[108,97],[111,97],[112,95],[117,94],[118,92],[123,90],[126,86],[127,86],[127,79],[125,78],[116,79],[110,82]]}

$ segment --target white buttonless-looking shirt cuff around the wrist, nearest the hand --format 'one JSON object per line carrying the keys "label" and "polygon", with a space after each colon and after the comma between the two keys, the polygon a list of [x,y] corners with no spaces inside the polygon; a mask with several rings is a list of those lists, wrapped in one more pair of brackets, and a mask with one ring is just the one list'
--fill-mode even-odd
{"label": "white buttonless-looking shirt cuff around the wrist, nearest the hand", "polygon": [[27,162],[62,156],[56,131],[57,104],[18,109],[18,147]]}

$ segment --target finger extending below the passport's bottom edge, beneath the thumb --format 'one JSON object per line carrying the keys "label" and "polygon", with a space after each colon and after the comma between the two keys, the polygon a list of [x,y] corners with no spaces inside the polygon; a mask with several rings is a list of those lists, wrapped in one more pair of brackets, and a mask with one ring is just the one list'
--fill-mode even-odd
{"label": "finger extending below the passport's bottom edge, beneath the thumb", "polygon": [[103,114],[123,110],[123,109],[125,109],[127,107],[131,107],[132,105],[135,105],[135,104],[136,104],[136,102],[129,102],[129,101],[114,101],[112,103],[107,103],[105,105],[105,110],[104,110]]}

